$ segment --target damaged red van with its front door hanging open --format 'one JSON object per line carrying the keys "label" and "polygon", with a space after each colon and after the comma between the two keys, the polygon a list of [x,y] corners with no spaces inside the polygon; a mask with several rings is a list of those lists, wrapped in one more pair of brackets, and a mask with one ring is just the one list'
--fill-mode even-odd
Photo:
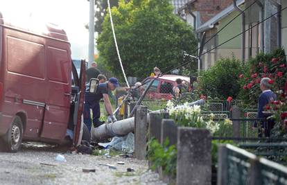
{"label": "damaged red van with its front door hanging open", "polygon": [[0,13],[0,148],[17,152],[22,140],[62,143],[67,131],[76,146],[85,61],[78,78],[64,30],[28,25],[14,25]]}

